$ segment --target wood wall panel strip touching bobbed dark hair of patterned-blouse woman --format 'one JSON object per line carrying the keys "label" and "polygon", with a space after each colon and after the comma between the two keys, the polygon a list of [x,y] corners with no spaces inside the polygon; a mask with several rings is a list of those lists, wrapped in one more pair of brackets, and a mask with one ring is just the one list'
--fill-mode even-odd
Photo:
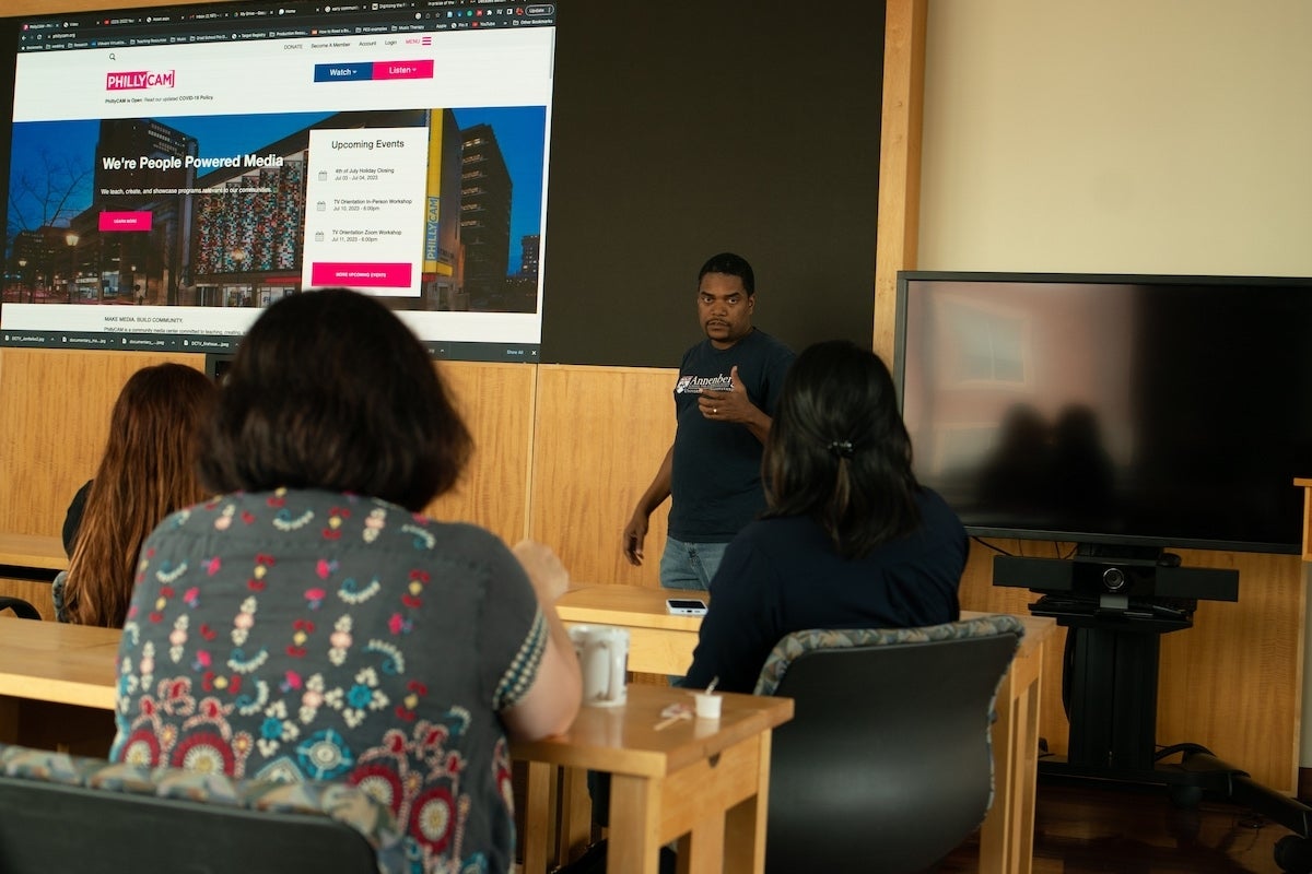
{"label": "wood wall panel strip touching bobbed dark hair of patterned-blouse woman", "polygon": [[455,489],[428,512],[483,525],[514,545],[527,532],[538,367],[440,362],[437,368],[474,435],[474,456]]}

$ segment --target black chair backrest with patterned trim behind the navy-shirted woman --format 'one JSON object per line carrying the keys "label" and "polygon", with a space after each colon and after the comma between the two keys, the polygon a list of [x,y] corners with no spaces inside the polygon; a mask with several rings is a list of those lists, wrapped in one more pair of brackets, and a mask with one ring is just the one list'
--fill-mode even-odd
{"label": "black chair backrest with patterned trim behind the navy-shirted woman", "polygon": [[794,698],[774,731],[768,871],[930,869],[993,795],[993,697],[1025,633],[1012,616],[812,630],[774,647],[757,694]]}

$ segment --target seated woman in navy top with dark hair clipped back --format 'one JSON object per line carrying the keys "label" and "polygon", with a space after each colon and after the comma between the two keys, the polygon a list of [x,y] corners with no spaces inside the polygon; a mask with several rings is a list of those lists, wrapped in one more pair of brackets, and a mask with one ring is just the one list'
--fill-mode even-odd
{"label": "seated woman in navy top with dark hair clipped back", "polygon": [[682,685],[752,692],[791,632],[958,620],[966,529],[911,461],[884,363],[845,341],[803,351],[765,443],[768,510],[724,553]]}

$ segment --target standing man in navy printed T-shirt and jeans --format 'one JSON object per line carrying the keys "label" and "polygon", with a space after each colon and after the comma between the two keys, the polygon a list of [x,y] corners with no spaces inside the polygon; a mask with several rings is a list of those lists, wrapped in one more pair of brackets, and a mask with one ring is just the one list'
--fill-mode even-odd
{"label": "standing man in navy printed T-shirt and jeans", "polygon": [[697,316],[706,339],[684,354],[674,385],[674,444],[625,525],[625,556],[643,562],[651,514],[670,498],[660,561],[666,588],[710,587],[724,548],[765,508],[761,447],[770,432],[787,346],[752,326],[756,279],[724,252],[698,274]]}

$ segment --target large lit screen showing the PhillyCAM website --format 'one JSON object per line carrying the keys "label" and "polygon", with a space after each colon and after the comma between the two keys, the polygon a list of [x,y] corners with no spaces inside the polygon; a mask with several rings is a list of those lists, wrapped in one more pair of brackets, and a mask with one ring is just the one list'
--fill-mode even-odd
{"label": "large lit screen showing the PhillyCAM website", "polygon": [[556,4],[0,17],[0,343],[228,352],[311,287],[535,360]]}

